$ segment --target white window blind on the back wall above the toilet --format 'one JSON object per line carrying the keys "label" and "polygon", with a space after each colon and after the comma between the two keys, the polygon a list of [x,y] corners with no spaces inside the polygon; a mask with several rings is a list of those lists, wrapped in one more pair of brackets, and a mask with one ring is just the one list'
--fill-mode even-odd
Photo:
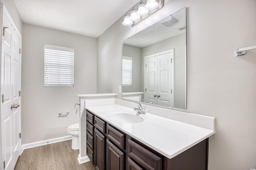
{"label": "white window blind on the back wall above the toilet", "polygon": [[74,49],[44,46],[44,86],[74,86]]}

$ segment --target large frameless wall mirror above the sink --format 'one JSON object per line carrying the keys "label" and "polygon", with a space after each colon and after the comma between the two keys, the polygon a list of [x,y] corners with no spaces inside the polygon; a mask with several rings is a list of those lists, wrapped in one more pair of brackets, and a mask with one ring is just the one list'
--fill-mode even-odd
{"label": "large frameless wall mirror above the sink", "polygon": [[122,98],[186,109],[186,8],[123,41]]}

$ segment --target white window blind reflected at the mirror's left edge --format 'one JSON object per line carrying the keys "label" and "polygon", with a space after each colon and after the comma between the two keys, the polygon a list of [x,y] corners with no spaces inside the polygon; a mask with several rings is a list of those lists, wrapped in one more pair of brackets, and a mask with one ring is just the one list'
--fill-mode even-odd
{"label": "white window blind reflected at the mirror's left edge", "polygon": [[132,86],[132,57],[124,57],[122,59],[122,85]]}

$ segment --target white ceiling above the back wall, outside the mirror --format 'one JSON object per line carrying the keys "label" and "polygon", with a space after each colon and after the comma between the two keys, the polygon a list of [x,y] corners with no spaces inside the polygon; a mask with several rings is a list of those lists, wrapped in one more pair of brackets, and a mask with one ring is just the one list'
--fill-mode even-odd
{"label": "white ceiling above the back wall, outside the mirror", "polygon": [[14,0],[23,23],[98,38],[139,0]]}

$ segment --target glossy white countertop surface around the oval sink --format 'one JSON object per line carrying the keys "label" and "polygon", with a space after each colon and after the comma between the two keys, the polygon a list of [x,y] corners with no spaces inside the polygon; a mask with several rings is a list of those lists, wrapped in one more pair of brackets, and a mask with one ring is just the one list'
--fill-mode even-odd
{"label": "glossy white countertop surface around the oval sink", "polygon": [[215,133],[215,129],[206,129],[150,113],[143,115],[146,120],[141,123],[121,123],[108,117],[108,114],[112,111],[136,112],[118,104],[89,106],[86,109],[167,158],[173,158]]}

